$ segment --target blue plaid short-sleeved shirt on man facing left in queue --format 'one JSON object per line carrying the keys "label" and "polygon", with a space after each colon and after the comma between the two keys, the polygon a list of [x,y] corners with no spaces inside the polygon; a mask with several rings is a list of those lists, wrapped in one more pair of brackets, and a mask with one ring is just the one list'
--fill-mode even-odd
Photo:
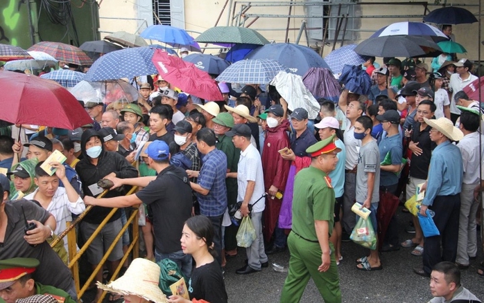
{"label": "blue plaid short-sleeved shirt on man facing left in queue", "polygon": [[227,208],[226,175],[227,156],[221,150],[214,149],[203,157],[197,183],[209,193],[207,196],[197,193],[200,214],[206,217],[223,215]]}

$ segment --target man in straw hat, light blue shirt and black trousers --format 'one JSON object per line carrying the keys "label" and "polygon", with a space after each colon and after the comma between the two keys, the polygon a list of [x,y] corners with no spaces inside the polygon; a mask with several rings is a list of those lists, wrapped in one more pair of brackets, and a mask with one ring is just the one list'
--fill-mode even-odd
{"label": "man in straw hat, light blue shirt and black trousers", "polygon": [[[427,182],[422,187],[425,197],[420,214],[426,216],[430,208],[435,212],[433,221],[440,236],[425,237],[424,266],[413,268],[417,275],[429,277],[433,266],[441,261],[454,263],[457,255],[457,241],[460,214],[460,190],[463,183],[463,158],[460,149],[451,141],[464,137],[460,129],[453,127],[447,118],[427,119],[432,127],[430,139],[437,145],[433,149]],[[442,241],[442,252],[440,246]]]}

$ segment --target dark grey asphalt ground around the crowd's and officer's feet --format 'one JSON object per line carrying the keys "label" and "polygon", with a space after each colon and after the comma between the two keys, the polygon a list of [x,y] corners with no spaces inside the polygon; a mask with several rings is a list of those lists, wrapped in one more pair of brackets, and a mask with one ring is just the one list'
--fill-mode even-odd
{"label": "dark grey asphalt ground around the crowd's and officer's feet", "polygon": [[[404,232],[404,223],[410,220],[409,214],[397,211],[401,223],[401,241],[409,239],[410,234]],[[471,261],[471,267],[462,271],[463,285],[474,295],[484,300],[484,278],[476,275],[480,261],[484,259],[479,237],[479,250],[476,260]],[[395,252],[383,252],[381,261],[383,270],[363,272],[356,270],[355,261],[365,255],[365,249],[352,242],[343,243],[343,261],[340,266],[340,287],[343,302],[374,302],[374,303],[417,303],[428,302],[432,296],[429,291],[429,278],[415,275],[414,266],[422,265],[422,257],[410,255],[410,248],[401,248]],[[281,252],[269,256],[269,263],[288,266],[289,252]],[[279,302],[281,288],[287,273],[279,273],[269,268],[263,268],[260,273],[236,275],[235,270],[244,265],[245,251],[239,249],[239,256],[230,259],[225,270],[225,286],[231,303],[246,302]],[[301,302],[323,302],[312,280],[309,281]]]}

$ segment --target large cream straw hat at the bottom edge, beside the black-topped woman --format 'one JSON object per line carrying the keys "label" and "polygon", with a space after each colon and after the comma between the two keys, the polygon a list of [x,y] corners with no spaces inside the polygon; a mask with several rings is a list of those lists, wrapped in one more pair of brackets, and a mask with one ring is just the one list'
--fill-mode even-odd
{"label": "large cream straw hat at the bottom edge, beside the black-topped woman", "polygon": [[137,295],[155,303],[167,303],[168,300],[159,289],[159,266],[147,259],[137,258],[132,260],[130,267],[123,277],[109,284],[97,282],[98,288],[110,293],[120,295]]}

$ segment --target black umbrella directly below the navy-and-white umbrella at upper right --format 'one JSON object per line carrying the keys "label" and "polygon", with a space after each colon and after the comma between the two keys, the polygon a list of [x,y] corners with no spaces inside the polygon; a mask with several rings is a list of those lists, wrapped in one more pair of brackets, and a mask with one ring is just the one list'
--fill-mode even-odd
{"label": "black umbrella directly below the navy-and-white umbrella at upper right", "polygon": [[442,53],[435,42],[418,36],[368,38],[358,44],[354,51],[360,55],[374,57],[435,57]]}

